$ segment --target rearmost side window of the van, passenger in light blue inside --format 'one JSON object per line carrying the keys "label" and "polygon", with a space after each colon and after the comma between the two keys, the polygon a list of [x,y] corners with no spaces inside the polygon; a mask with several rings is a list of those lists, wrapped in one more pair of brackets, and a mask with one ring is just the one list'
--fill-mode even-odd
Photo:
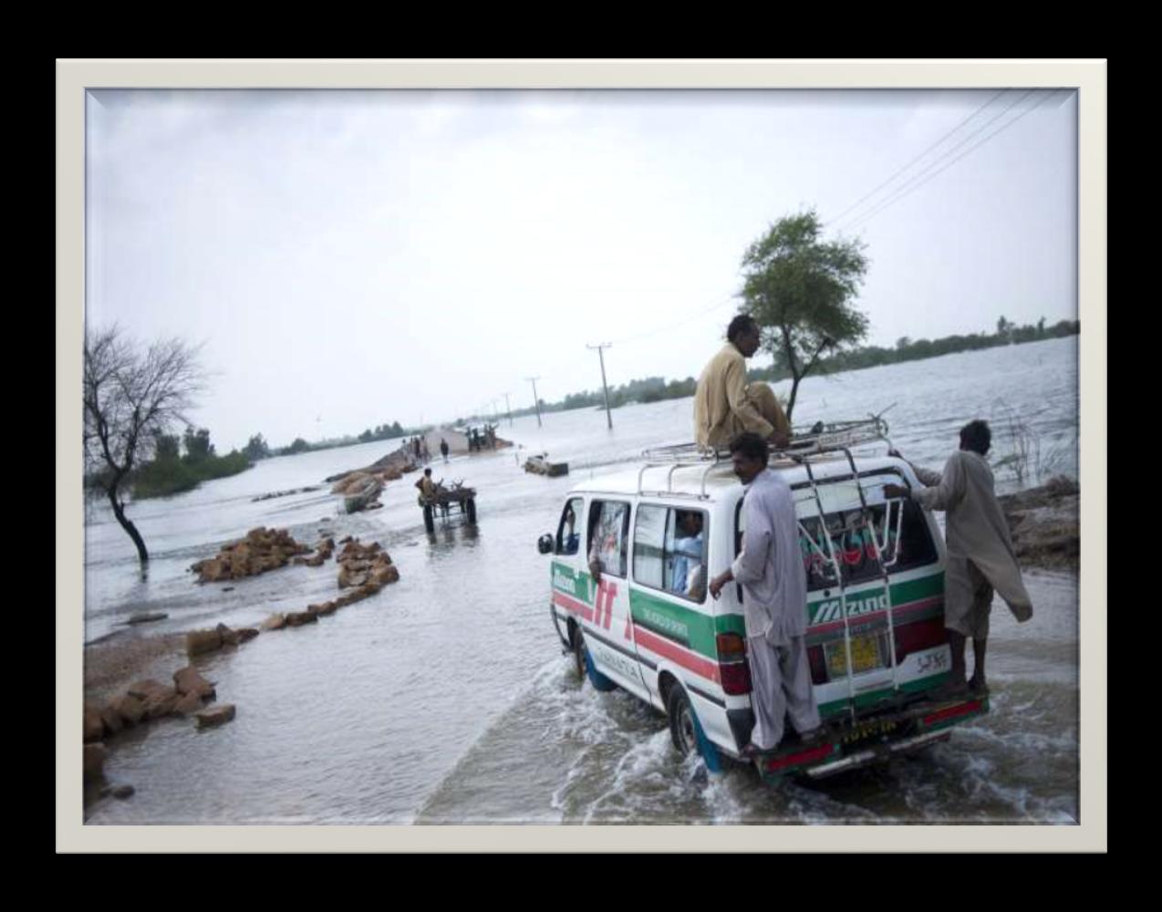
{"label": "rearmost side window of the van, passenger in light blue inside", "polygon": [[705,601],[706,540],[702,510],[643,504],[633,526],[634,582]]}

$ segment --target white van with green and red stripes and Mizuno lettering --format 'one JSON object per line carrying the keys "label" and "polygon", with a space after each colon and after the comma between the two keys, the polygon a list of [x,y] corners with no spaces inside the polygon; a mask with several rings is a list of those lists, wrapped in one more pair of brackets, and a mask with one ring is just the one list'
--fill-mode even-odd
{"label": "white van with green and red stripes and Mizuno lettering", "polygon": [[[911,468],[825,437],[794,446],[769,467],[795,497],[826,737],[803,745],[788,725],[780,748],[755,761],[766,778],[818,778],[916,751],[988,711],[987,696],[926,697],[952,667],[944,541],[931,515],[883,496],[888,482],[919,484]],[[739,757],[754,723],[741,590],[730,584],[717,601],[706,593],[738,554],[743,493],[725,454],[650,451],[632,471],[576,484],[555,534],[539,543],[552,554],[553,625],[578,673],[666,712],[675,747],[697,749],[712,771],[723,755]]]}

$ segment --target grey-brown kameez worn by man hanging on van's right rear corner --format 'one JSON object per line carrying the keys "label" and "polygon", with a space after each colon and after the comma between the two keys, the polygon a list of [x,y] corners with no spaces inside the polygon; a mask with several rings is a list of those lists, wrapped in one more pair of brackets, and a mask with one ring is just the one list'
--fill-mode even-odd
{"label": "grey-brown kameez worn by man hanging on van's right rear corner", "polygon": [[947,511],[945,539],[945,626],[963,637],[989,635],[996,590],[1017,620],[1033,617],[1033,603],[1020,579],[1009,523],[994,493],[992,469],[980,453],[957,450],[942,473],[916,468],[928,486],[911,497],[925,510]]}

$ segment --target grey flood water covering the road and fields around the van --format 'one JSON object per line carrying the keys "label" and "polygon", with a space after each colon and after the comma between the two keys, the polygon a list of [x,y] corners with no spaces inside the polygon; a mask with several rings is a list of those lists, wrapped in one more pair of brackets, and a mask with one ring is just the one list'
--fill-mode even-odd
{"label": "grey flood water covering the road and fields around the van", "polygon": [[[775,385],[786,394],[787,383]],[[622,691],[580,684],[548,616],[548,559],[566,491],[624,467],[646,446],[689,439],[691,400],[582,409],[503,422],[523,450],[432,464],[478,491],[479,524],[423,529],[413,482],[388,483],[383,509],[342,515],[323,479],[366,466],[393,444],[264,460],[171,498],[132,503],[149,576],[109,510],[86,509],[85,640],[257,626],[274,611],[333,598],[337,567],[286,567],[199,584],[189,565],[259,525],[314,544],[321,530],[380,541],[397,583],[303,627],[263,633],[196,660],[237,718],[195,731],[164,719],[109,741],[107,778],[129,800],[85,807],[89,824],[375,823],[1050,823],[1078,820],[1077,580],[1031,569],[1034,619],[997,602],[989,641],[991,712],[951,741],[822,783],[763,785],[737,766],[708,777],[681,760],[664,716]],[[994,461],[1020,416],[1037,451],[1030,474],[1077,474],[1076,338],[809,378],[796,425],[878,412],[892,443],[939,468],[971,417],[994,426]],[[523,472],[530,452],[571,475]],[[1000,493],[1016,479],[997,472]],[[1027,479],[1026,483],[1032,483]],[[253,502],[293,488],[315,491]],[[453,514],[453,519],[456,515]],[[228,587],[232,587],[227,591]],[[159,623],[129,629],[141,611]],[[174,666],[177,668],[177,665]]]}

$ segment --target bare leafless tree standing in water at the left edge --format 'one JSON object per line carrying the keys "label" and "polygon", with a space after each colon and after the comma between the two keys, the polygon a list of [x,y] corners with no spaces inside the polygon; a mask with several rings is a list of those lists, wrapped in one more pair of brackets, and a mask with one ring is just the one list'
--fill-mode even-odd
{"label": "bare leafless tree standing in water at the left edge", "polygon": [[181,339],[162,339],[143,350],[117,326],[85,335],[85,461],[137,546],[143,569],[149,552],[125,516],[121,487],[152,454],[157,438],[185,421],[205,385],[200,350]]}

